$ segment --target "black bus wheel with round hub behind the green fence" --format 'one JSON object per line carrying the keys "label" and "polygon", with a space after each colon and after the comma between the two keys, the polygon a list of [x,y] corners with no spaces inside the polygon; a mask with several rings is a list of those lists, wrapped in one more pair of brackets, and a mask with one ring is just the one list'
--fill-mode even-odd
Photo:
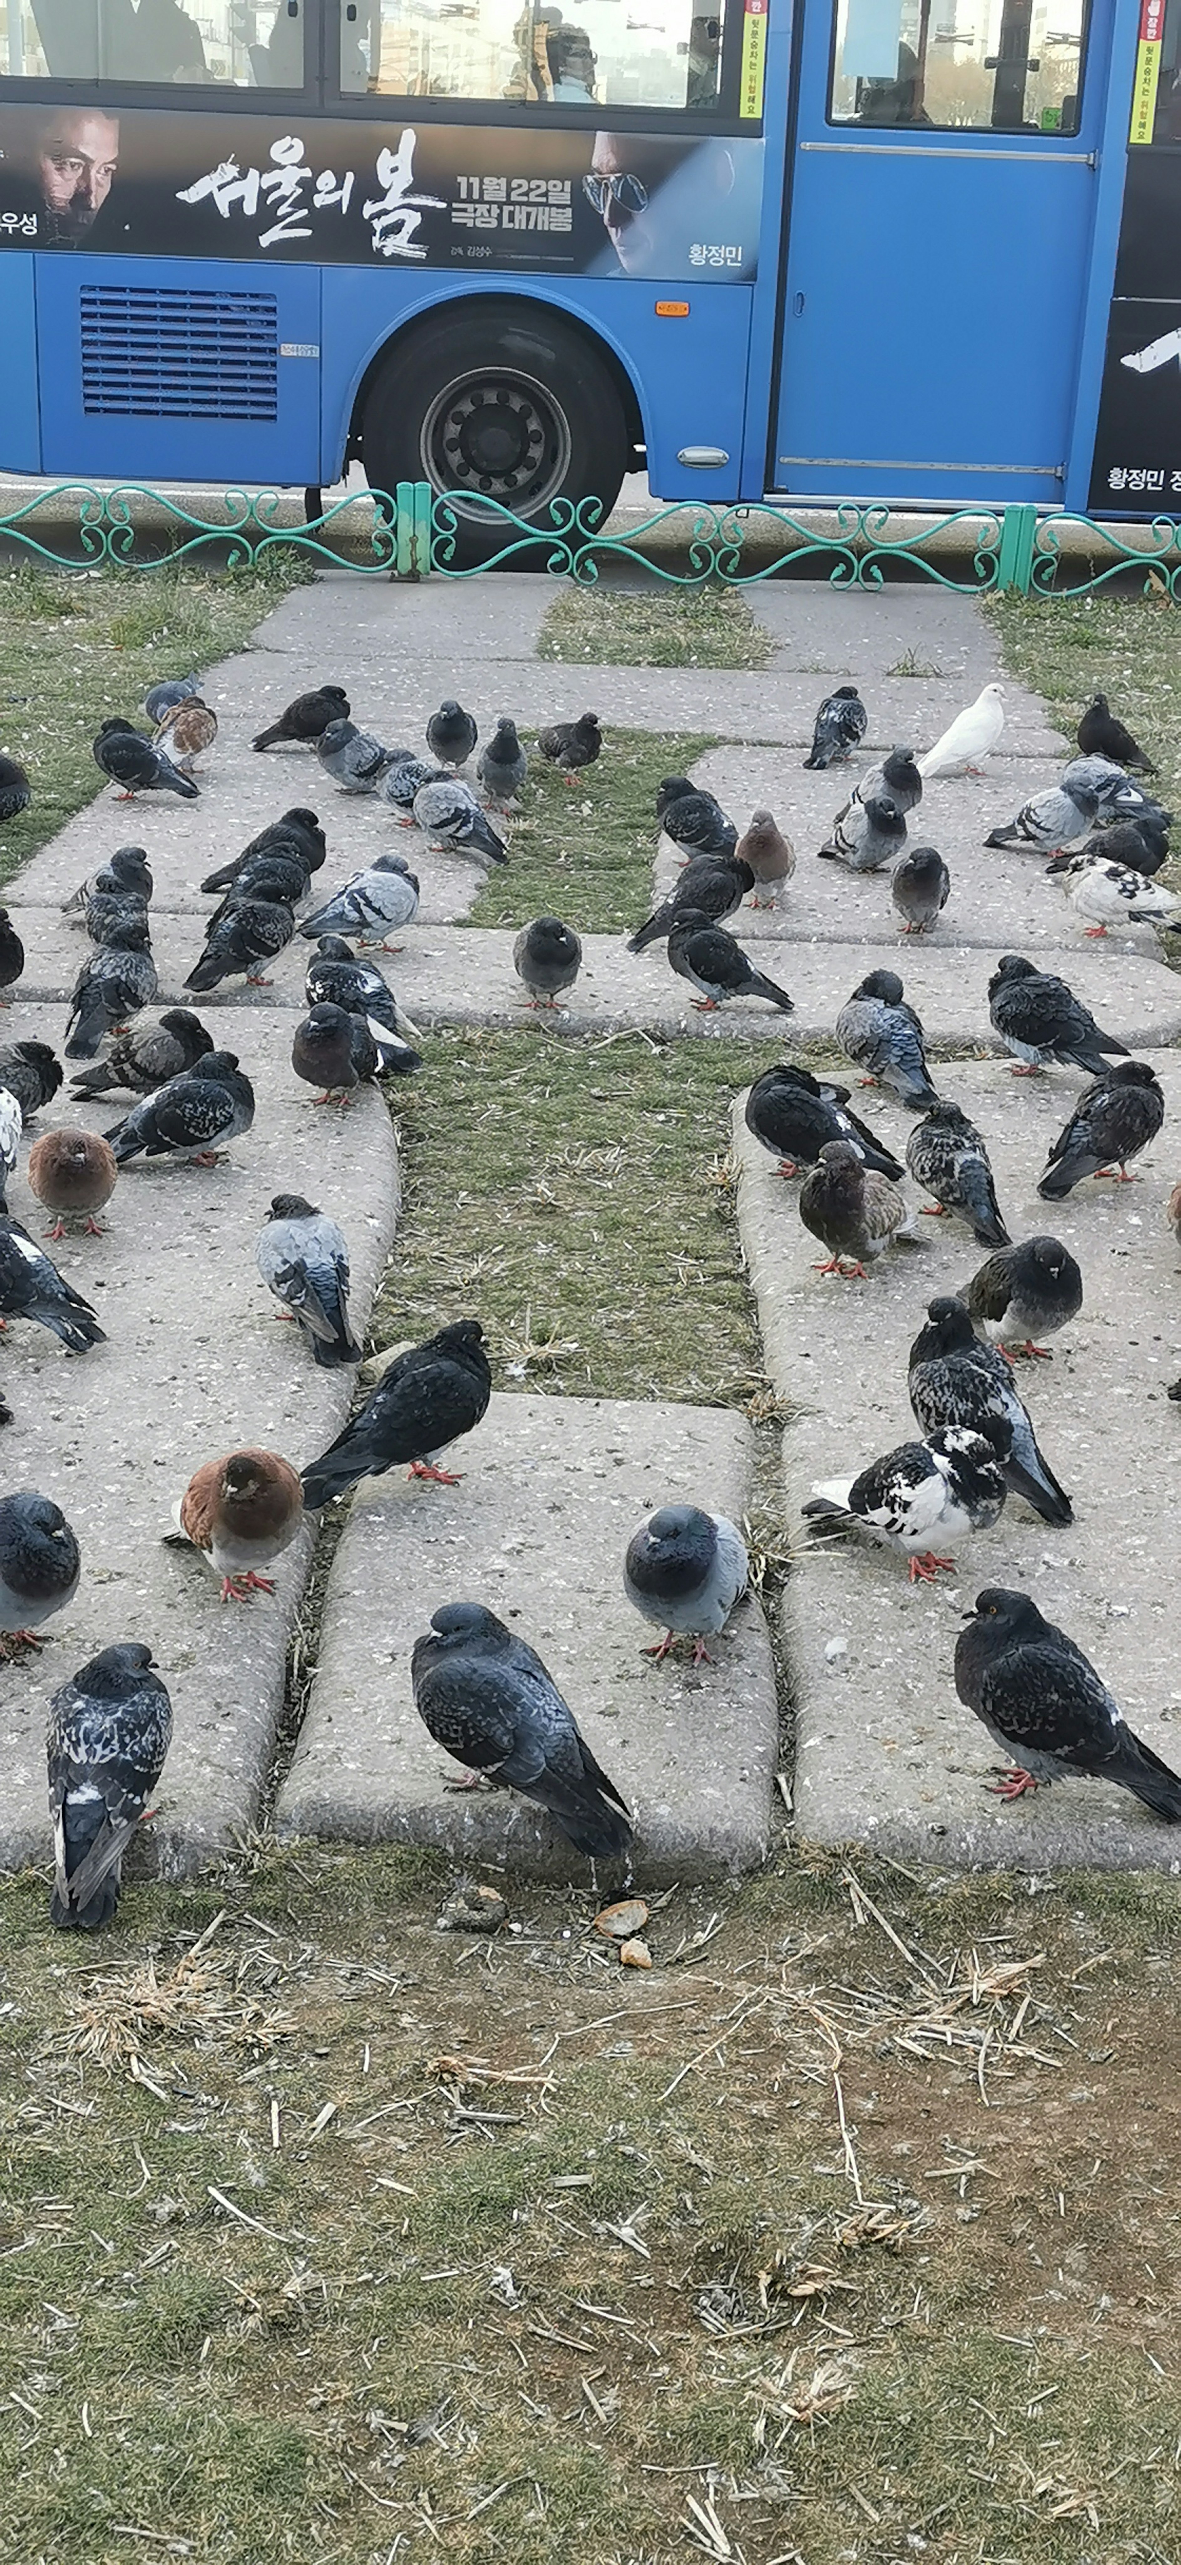
{"label": "black bus wheel with round hub behind the green fence", "polygon": [[556,313],[515,298],[436,310],[382,357],[361,405],[361,454],[371,490],[425,480],[453,492],[459,567],[515,539],[464,500],[494,498],[546,528],[551,500],[597,498],[607,518],[630,462],[602,357]]}

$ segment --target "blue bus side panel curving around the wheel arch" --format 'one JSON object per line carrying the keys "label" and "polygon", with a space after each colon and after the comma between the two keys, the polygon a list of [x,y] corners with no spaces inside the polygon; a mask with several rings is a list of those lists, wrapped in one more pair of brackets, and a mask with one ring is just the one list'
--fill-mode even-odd
{"label": "blue bus side panel curving around the wheel arch", "polygon": [[[325,482],[341,475],[356,390],[382,346],[425,310],[466,298],[471,318],[479,298],[517,292],[535,310],[546,305],[582,321],[617,357],[640,403],[648,446],[648,482],[666,500],[738,498],[743,451],[745,362],[751,341],[748,285],[656,285],[633,277],[569,280],[561,300],[538,280],[484,277],[474,290],[436,277],[371,274],[336,267],[323,308],[323,459]],[[689,303],[681,321],[658,321],[656,303]],[[684,446],[717,446],[720,469],[676,462]]]}

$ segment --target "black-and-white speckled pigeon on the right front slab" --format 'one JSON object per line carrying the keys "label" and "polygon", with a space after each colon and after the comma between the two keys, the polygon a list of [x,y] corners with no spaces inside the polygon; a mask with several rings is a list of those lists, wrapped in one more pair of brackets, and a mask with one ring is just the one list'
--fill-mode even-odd
{"label": "black-and-white speckled pigeon on the right front slab", "polygon": [[804,1521],[817,1531],[866,1531],[884,1549],[902,1549],[909,1583],[956,1567],[956,1549],[973,1531],[991,1531],[1004,1511],[1004,1477],[984,1434],[945,1426],[930,1442],[899,1444],[858,1477],[820,1480]]}

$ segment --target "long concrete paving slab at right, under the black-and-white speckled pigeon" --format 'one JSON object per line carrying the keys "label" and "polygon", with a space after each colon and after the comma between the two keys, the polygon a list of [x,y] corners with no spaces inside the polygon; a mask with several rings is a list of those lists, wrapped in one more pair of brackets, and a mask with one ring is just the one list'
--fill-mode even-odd
{"label": "long concrete paving slab at right, under the black-and-white speckled pigeon", "polygon": [[[1158,1144],[1135,1185],[1086,1182],[1038,1200],[1048,1147],[1081,1080],[1012,1077],[961,1062],[940,1088],[989,1141],[1014,1239],[1050,1231],[1084,1272],[1081,1318],[1055,1359],[1017,1365],[1038,1439],[1076,1521],[1055,1531],[1009,1498],[999,1526],[961,1552],[938,1590],[907,1585],[904,1562],[866,1547],[804,1549],[799,1506],[815,1480],[863,1467],[912,1434],[907,1349],[938,1290],[984,1257],[961,1221],[920,1221],[922,1249],[897,1249],[868,1282],[820,1277],[820,1249],[735,1108],[738,1216],[769,1375],[797,1408],[784,1431],[786,1521],[799,1536],[784,1601],[797,1701],[799,1831],[863,1842],[897,1860],[953,1867],[1181,1870],[1178,1831],[1125,1790],[1061,1783],[1004,1808],[984,1783],[986,1731],[953,1688],[958,1616],[984,1585],[1025,1588],[1112,1685],[1127,1721],[1181,1770],[1181,1680],[1171,1636],[1181,1524],[1171,1485],[1181,1418],[1166,1400],[1181,1370],[1176,1244],[1163,1203],[1181,1165],[1181,1059],[1155,1054],[1168,1095]],[[868,1113],[902,1152],[909,1116],[881,1095]],[[907,1193],[922,1200],[915,1185]]]}

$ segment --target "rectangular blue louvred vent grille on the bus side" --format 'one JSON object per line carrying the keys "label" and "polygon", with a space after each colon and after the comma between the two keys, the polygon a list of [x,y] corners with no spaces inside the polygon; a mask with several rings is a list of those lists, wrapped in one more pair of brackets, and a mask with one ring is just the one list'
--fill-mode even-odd
{"label": "rectangular blue louvred vent grille on the bus side", "polygon": [[277,418],[274,295],[82,287],[87,418]]}

